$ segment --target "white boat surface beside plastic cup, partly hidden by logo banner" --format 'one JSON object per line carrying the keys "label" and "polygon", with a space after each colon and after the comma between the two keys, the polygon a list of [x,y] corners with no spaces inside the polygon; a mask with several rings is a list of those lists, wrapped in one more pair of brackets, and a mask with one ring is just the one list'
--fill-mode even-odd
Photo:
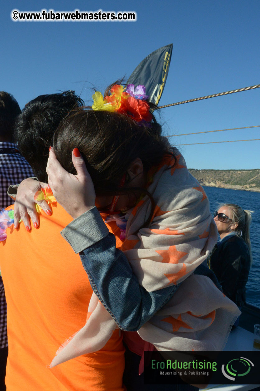
{"label": "white boat surface beside plastic cup, partly hidden by logo banner", "polygon": [[[237,327],[230,333],[228,337],[228,342],[224,350],[256,350],[253,348],[254,334],[245,330],[242,327]],[[259,350],[260,358],[260,350]],[[209,384],[204,390],[210,391],[248,391],[251,389],[256,389],[260,387],[260,384],[239,384],[239,385],[230,385],[230,384]]]}

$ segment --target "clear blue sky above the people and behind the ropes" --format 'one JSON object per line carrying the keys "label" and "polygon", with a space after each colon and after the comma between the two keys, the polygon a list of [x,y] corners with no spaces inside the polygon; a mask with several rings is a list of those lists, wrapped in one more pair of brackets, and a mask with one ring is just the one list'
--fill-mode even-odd
{"label": "clear blue sky above the people and behind the ropes", "polygon": [[[20,11],[135,11],[137,22],[13,22]],[[259,0],[9,1],[0,6],[1,90],[20,107],[75,90],[87,102],[173,43],[160,105],[260,84]],[[260,88],[166,108],[165,135],[260,125]],[[170,138],[184,143],[260,138],[260,127]],[[260,168],[260,141],[180,146],[196,169]]]}

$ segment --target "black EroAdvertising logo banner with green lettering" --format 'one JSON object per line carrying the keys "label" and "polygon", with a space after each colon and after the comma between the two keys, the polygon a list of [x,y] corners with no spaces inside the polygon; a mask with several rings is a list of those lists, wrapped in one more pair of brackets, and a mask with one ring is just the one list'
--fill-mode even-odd
{"label": "black EroAdvertising logo banner with green lettering", "polygon": [[145,352],[144,384],[260,384],[260,352]]}

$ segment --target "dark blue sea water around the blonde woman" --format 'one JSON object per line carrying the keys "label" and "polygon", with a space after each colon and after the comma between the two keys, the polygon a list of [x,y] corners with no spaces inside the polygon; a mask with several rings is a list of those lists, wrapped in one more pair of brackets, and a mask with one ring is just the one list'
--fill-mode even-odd
{"label": "dark blue sea water around the blonde woman", "polygon": [[[219,204],[237,204],[243,209],[253,210],[250,226],[253,265],[246,284],[246,301],[260,307],[260,193],[245,190],[203,187],[210,201],[213,214]],[[219,238],[220,239],[220,238]]]}

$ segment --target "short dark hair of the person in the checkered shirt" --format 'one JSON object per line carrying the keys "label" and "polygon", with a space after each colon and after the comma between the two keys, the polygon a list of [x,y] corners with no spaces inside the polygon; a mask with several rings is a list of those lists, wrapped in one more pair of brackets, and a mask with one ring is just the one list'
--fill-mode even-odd
{"label": "short dark hair of the person in the checkered shirt", "polygon": [[0,138],[11,142],[14,133],[16,117],[21,109],[16,99],[5,91],[0,91]]}

